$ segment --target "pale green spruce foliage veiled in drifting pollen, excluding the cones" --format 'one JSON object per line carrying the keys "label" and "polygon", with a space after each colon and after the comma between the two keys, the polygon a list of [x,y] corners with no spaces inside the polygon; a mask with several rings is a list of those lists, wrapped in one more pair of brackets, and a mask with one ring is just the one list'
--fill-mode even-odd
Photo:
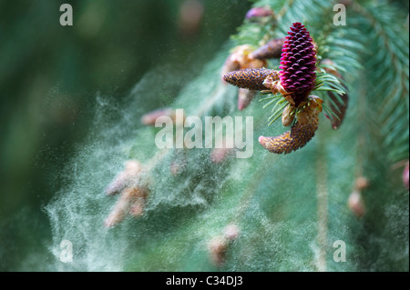
{"label": "pale green spruce foliage veiled in drifting pollen, excluding the cones", "polygon": [[[124,120],[90,138],[73,162],[72,185],[47,205],[54,253],[58,254],[63,238],[81,248],[74,257],[77,262],[59,264],[62,269],[408,271],[408,191],[401,183],[401,172],[391,167],[408,158],[405,15],[384,1],[352,1],[347,25],[336,26],[331,1],[261,0],[254,5],[270,5],[276,19],[244,21],[229,45],[172,104],[186,115],[253,116],[252,157],[215,164],[210,161],[210,149],[184,154],[160,151],[154,145],[157,128],[142,127],[137,132],[130,128],[128,122],[135,116],[130,117],[129,107],[142,111],[150,97],[164,94],[150,88],[166,83],[171,74],[154,71],[137,85],[130,95],[133,101],[120,108],[117,114],[124,115]],[[321,117],[308,145],[291,155],[273,155],[261,148],[257,137],[279,135],[284,128],[280,122],[268,126],[271,114],[261,102],[236,111],[237,90],[220,83],[220,68],[235,45],[261,45],[282,37],[292,22],[306,25],[317,42],[319,59],[333,60],[343,76],[322,71],[315,94],[330,105],[327,90],[343,95],[345,85],[349,104],[340,129],[332,130]],[[270,66],[277,68],[277,61]],[[268,101],[265,105],[277,100],[272,95],[256,98],[263,97]],[[108,112],[101,116],[112,114],[109,105],[104,110]],[[127,134],[114,142],[118,127]],[[115,198],[101,193],[129,158],[150,169],[146,214],[104,229],[102,222]],[[183,172],[171,175],[172,162],[183,163]],[[370,183],[360,189],[366,206],[362,217],[346,205],[359,176]],[[218,267],[210,262],[208,245],[230,224],[238,225],[241,232],[227,250],[226,263]],[[333,243],[338,240],[346,244],[346,262],[333,259]]]}

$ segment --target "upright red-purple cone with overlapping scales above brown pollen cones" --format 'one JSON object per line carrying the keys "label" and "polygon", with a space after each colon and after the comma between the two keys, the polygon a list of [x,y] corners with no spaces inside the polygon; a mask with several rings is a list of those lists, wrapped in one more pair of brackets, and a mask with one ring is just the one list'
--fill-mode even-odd
{"label": "upright red-purple cone with overlapping scales above brown pollen cones", "polygon": [[309,32],[299,22],[291,26],[282,47],[281,84],[296,106],[310,95],[316,80],[316,51]]}

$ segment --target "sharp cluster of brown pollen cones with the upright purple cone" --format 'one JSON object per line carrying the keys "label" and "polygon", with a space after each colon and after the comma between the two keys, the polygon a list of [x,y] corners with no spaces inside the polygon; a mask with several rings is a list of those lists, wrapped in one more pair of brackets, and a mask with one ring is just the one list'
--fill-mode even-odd
{"label": "sharp cluster of brown pollen cones with the upright purple cone", "polygon": [[[281,57],[281,71],[264,68],[266,59],[273,57]],[[240,46],[228,57],[222,74],[224,82],[240,88],[240,110],[250,104],[257,91],[279,93],[289,103],[282,123],[293,124],[291,131],[275,137],[261,136],[259,142],[265,149],[288,154],[313,138],[323,101],[311,95],[316,80],[316,48],[304,25],[294,23],[286,37],[273,39],[253,51],[247,47],[244,53]]]}

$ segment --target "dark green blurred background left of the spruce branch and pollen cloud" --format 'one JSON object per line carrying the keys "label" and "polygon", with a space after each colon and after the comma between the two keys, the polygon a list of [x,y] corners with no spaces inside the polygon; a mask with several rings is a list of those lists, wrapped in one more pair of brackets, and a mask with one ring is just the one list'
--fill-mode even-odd
{"label": "dark green blurred background left of the spruce branch and pollen cloud", "polygon": [[[73,7],[73,26],[59,24],[64,3]],[[164,64],[189,72],[188,83],[250,7],[245,0],[0,1],[1,271],[53,270],[45,265],[51,231],[42,208],[61,186],[53,174],[89,134],[96,95],[120,103]],[[27,264],[27,255],[38,258]]]}

